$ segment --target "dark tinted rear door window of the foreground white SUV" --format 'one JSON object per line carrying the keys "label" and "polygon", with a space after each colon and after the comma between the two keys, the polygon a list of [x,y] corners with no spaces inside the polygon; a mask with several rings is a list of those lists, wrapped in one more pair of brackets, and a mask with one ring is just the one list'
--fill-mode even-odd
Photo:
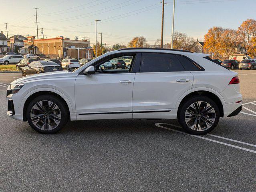
{"label": "dark tinted rear door window of the foreground white SUV", "polygon": [[140,72],[172,71],[185,71],[175,55],[162,53],[142,53]]}

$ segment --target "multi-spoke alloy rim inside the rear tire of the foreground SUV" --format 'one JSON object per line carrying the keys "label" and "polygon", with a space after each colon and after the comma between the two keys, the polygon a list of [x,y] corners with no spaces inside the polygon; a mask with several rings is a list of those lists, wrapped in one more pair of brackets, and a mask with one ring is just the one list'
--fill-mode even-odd
{"label": "multi-spoke alloy rim inside the rear tire of the foreground SUV", "polygon": [[204,131],[212,127],[216,112],[212,105],[204,101],[192,103],[185,111],[185,122],[195,131]]}

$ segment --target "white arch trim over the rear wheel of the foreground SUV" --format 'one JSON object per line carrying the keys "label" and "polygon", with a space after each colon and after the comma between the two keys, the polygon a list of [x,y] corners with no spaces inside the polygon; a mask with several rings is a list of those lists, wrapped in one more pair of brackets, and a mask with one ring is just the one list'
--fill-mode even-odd
{"label": "white arch trim over the rear wheel of the foreground SUV", "polygon": [[223,109],[223,104],[225,104],[225,100],[224,98],[215,90],[212,91],[212,89],[200,89],[200,88],[196,88],[196,89],[192,89],[191,92],[185,92],[185,94],[183,94],[183,97],[181,97],[175,108],[178,109],[177,114],[179,114],[179,108],[182,105],[183,102],[185,102],[188,98],[192,97],[192,96],[196,96],[196,95],[202,95],[202,96],[207,96],[208,98],[214,100],[214,102],[216,102],[219,110],[220,110],[220,116],[223,117],[224,116],[224,109]]}

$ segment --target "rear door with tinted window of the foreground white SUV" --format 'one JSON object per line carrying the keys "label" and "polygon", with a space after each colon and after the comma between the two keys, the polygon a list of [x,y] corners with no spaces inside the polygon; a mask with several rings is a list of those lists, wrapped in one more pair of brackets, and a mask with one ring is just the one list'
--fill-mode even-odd
{"label": "rear door with tinted window of the foreground white SUV", "polygon": [[[181,58],[179,58],[181,57]],[[133,85],[133,118],[170,118],[177,100],[192,88],[194,76],[185,71],[185,57],[142,53]]]}

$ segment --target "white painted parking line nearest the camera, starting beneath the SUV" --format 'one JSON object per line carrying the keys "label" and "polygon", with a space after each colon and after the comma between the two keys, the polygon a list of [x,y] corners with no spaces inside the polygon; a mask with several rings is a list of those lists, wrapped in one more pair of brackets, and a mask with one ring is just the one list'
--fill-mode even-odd
{"label": "white painted parking line nearest the camera, starting beneath the SUV", "polygon": [[[160,124],[164,124],[164,125],[169,125],[169,126],[174,126],[174,127],[181,128],[180,126],[173,125],[173,124],[168,124],[168,123],[155,123],[155,126],[160,127],[160,128],[164,128],[164,129],[167,129],[167,130],[171,130],[171,131],[174,131],[174,132],[182,133],[182,134],[185,134],[185,135],[189,135],[189,136],[192,136],[192,137],[197,137],[197,138],[200,138],[200,139],[212,141],[212,142],[215,142],[215,143],[218,143],[218,144],[222,144],[222,145],[226,145],[226,146],[238,148],[238,149],[241,149],[241,150],[244,150],[244,151],[256,153],[256,151],[254,151],[254,150],[250,150],[250,149],[247,149],[247,148],[239,147],[239,146],[236,146],[236,145],[232,145],[232,144],[228,144],[228,143],[224,143],[224,142],[220,142],[220,141],[216,141],[216,140],[209,139],[209,138],[205,138],[205,137],[198,136],[198,135],[191,135],[191,134],[188,134],[188,133],[179,131],[179,130],[175,130],[175,129],[167,128],[167,127],[165,127],[165,126],[161,126]],[[225,139],[226,139],[226,138],[225,138]]]}

